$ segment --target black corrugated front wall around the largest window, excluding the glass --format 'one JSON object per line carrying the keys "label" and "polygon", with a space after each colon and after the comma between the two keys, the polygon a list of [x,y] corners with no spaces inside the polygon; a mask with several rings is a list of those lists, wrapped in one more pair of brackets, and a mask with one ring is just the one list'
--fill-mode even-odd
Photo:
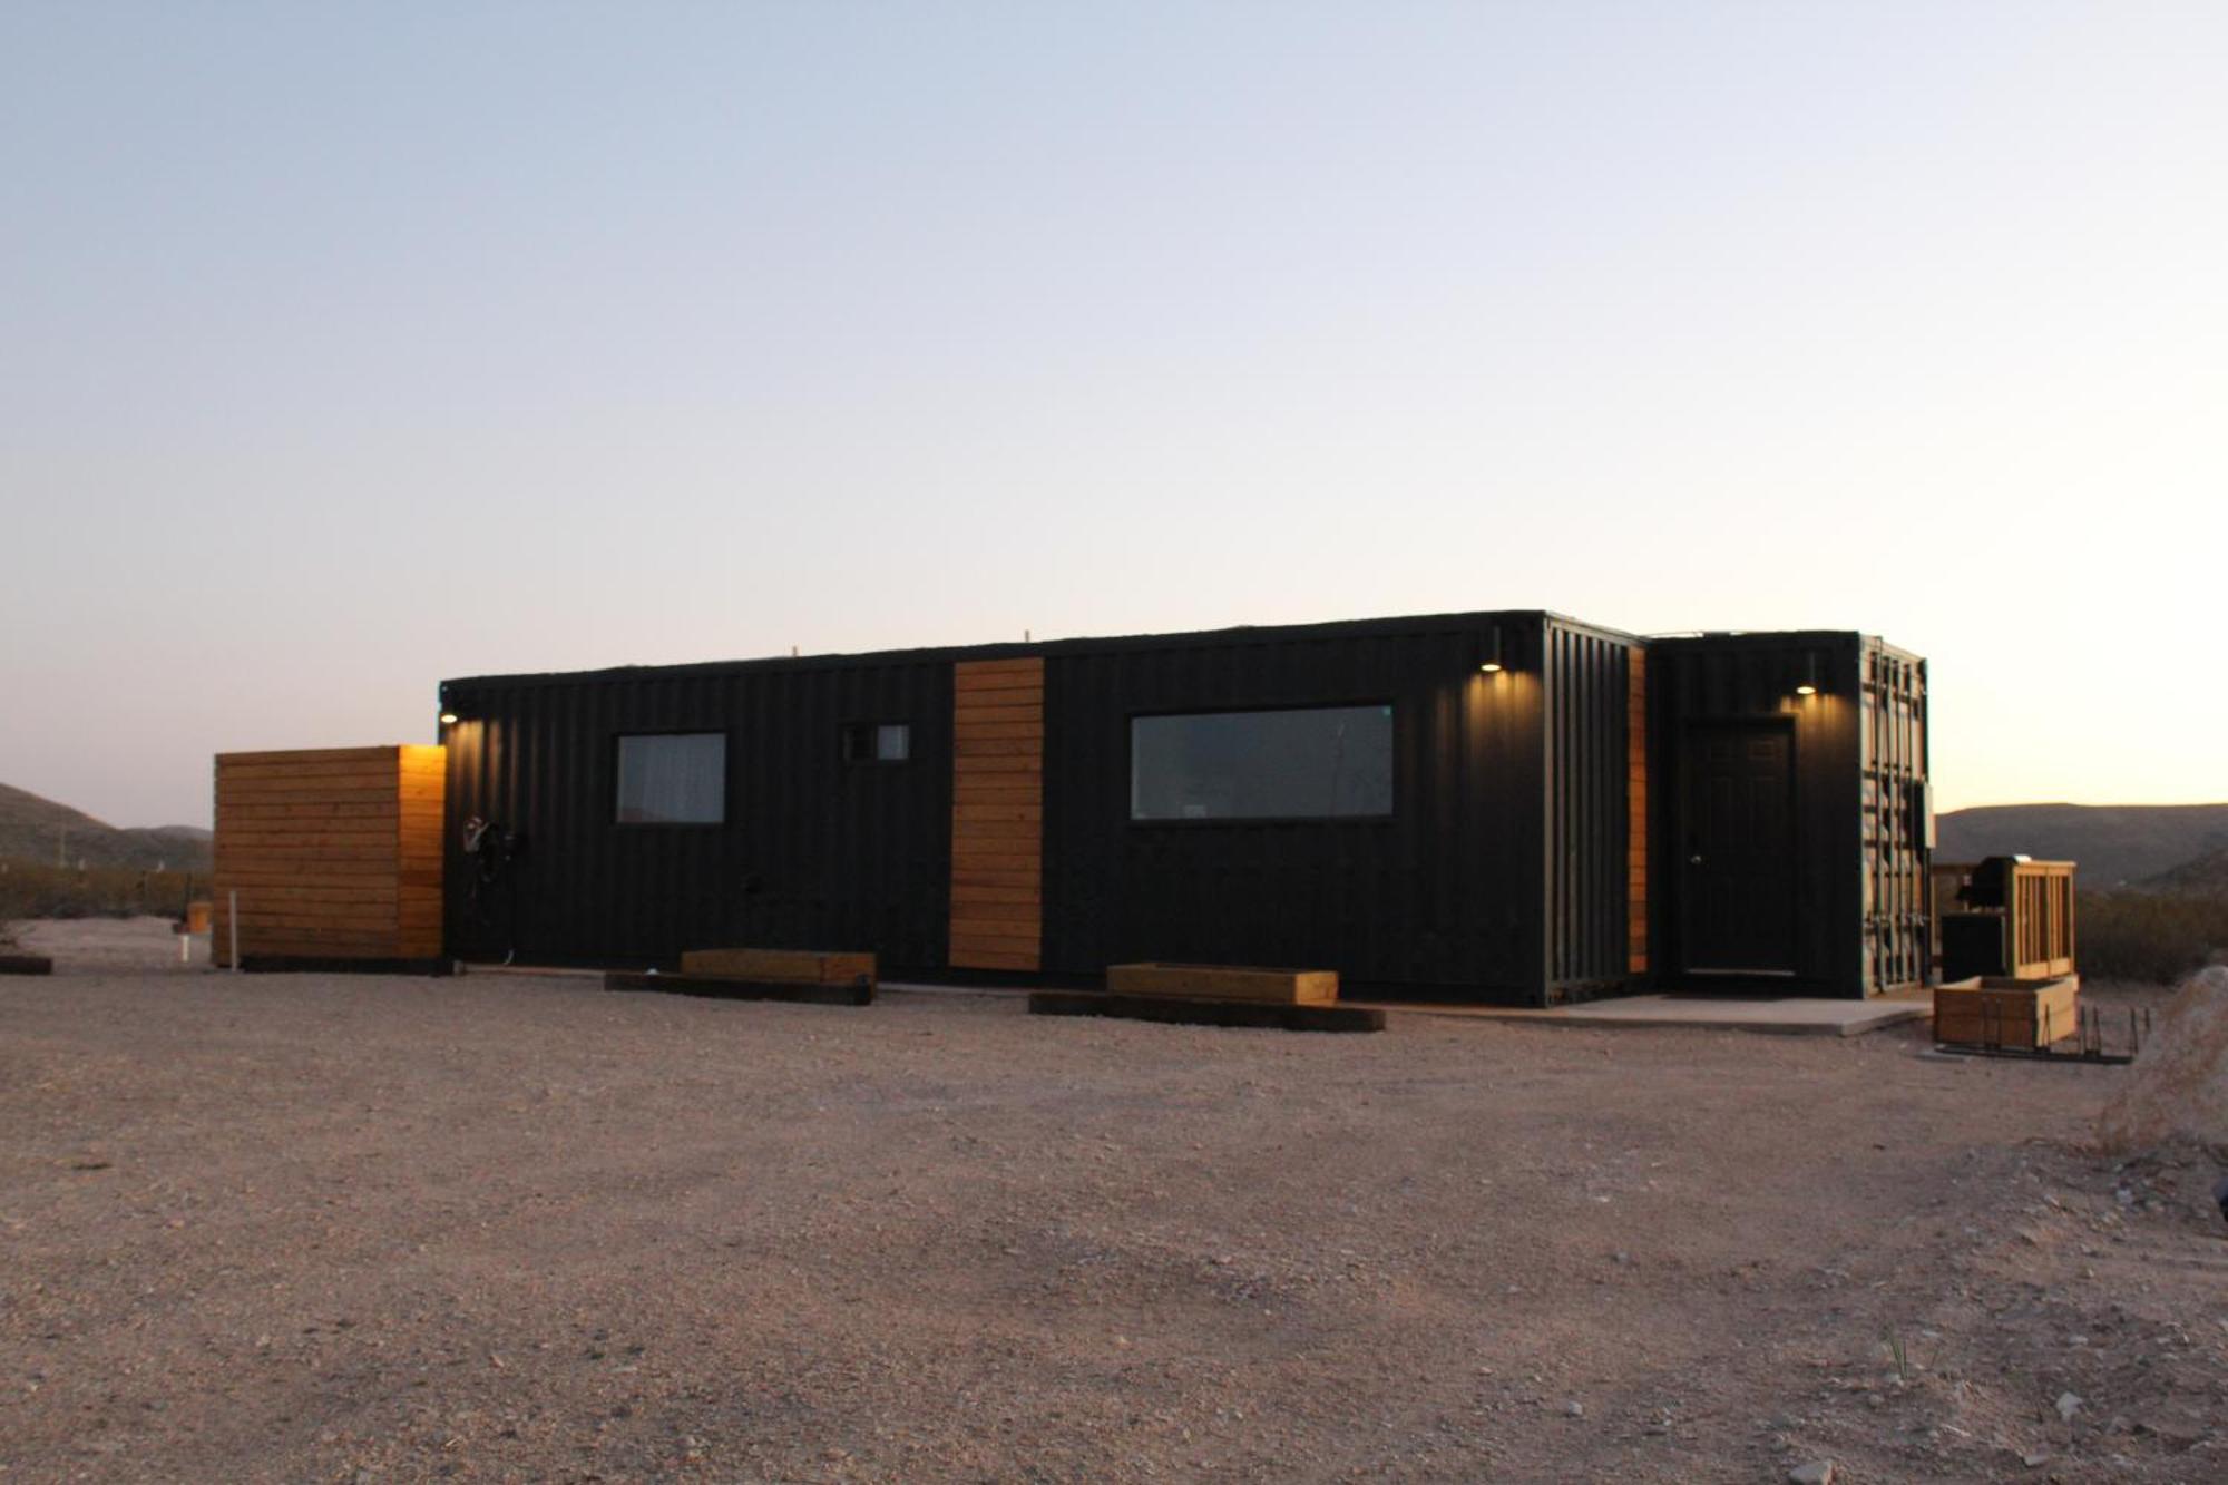
{"label": "black corrugated front wall around the largest window, excluding the glass", "polygon": [[[1508,669],[1484,676],[1493,622]],[[1540,615],[1462,615],[1415,629],[1056,649],[1045,696],[1045,968],[1288,963],[1332,968],[1355,986],[1537,999],[1540,635]],[[1364,702],[1395,707],[1393,818],[1130,821],[1132,716]]]}

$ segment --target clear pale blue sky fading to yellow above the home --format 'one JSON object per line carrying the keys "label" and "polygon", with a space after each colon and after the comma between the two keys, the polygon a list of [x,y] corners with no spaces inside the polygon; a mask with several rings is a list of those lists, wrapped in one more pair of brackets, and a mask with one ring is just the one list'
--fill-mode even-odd
{"label": "clear pale blue sky fading to yellow above the home", "polygon": [[0,7],[0,783],[443,676],[1867,629],[2228,798],[2228,4]]}

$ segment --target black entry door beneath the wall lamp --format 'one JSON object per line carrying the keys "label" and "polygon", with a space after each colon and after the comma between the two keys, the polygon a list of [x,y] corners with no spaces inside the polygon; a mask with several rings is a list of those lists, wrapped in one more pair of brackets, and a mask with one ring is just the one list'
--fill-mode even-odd
{"label": "black entry door beneath the wall lamp", "polygon": [[1684,789],[1687,972],[1791,974],[1794,734],[1782,722],[1693,727]]}

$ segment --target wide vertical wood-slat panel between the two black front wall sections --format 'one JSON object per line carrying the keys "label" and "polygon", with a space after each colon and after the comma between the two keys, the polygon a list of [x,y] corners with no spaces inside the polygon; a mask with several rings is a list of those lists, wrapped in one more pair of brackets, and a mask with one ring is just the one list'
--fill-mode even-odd
{"label": "wide vertical wood-slat panel between the two black front wall sections", "polygon": [[951,667],[951,965],[1040,968],[1045,662]]}

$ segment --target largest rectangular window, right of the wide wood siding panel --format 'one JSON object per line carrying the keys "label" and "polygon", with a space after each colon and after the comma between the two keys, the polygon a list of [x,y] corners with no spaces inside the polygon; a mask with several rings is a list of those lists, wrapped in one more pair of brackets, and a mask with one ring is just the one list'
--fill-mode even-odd
{"label": "largest rectangular window, right of the wide wood siding panel", "polygon": [[1393,707],[1199,711],[1130,720],[1132,821],[1393,814]]}

